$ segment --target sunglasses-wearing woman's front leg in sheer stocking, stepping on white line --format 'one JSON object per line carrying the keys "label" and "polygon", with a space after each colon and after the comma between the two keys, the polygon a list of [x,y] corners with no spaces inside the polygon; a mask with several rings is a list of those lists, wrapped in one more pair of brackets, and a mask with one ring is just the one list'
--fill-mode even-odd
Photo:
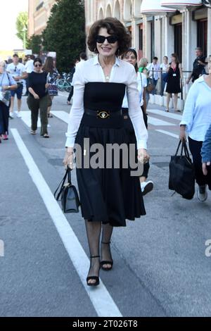
{"label": "sunglasses-wearing woman's front leg in sheer stocking, stepping on white line", "polygon": [[[90,252],[90,268],[88,277],[99,277],[101,264],[98,256],[100,255],[99,245],[101,237],[101,222],[89,222],[89,220],[86,220],[85,223]],[[92,256],[96,256],[96,258],[91,258]],[[96,280],[88,280],[88,283],[95,284]]]}

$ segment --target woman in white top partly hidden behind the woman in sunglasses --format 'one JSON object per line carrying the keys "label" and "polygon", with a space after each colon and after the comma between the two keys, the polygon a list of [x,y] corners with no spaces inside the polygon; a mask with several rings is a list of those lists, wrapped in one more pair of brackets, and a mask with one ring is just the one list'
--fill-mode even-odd
{"label": "woman in white top partly hidden behind the woman in sunglasses", "polygon": [[[131,63],[132,65],[134,65],[134,68],[136,70],[138,90],[139,90],[139,101],[140,101],[140,107],[141,107],[140,111],[142,111],[142,113],[143,113],[143,120],[146,125],[146,129],[147,129],[148,128],[148,123],[147,123],[148,119],[147,119],[147,115],[146,115],[147,78],[146,78],[146,75],[139,72],[139,68],[137,65],[137,59],[138,59],[138,56],[137,56],[135,49],[129,49],[127,52],[125,52],[122,55],[122,60],[127,61],[128,63]],[[123,100],[123,104],[122,104],[122,115],[124,118],[125,128],[128,130],[130,143],[134,144],[136,142],[136,135],[134,132],[134,127],[132,125],[132,121],[129,118],[127,93],[124,95],[124,100]],[[146,195],[153,190],[153,182],[151,180],[146,182],[146,180],[148,178],[149,168],[150,168],[149,162],[146,162],[143,164],[143,173],[140,177],[142,195]]]}

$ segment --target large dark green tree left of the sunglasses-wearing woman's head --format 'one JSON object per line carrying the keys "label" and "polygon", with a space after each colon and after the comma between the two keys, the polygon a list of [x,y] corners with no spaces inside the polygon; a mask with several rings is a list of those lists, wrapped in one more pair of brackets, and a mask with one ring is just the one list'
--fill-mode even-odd
{"label": "large dark green tree left of the sunglasses-wearing woman's head", "polygon": [[68,72],[85,45],[84,1],[57,0],[44,30],[43,46],[56,51],[58,70]]}

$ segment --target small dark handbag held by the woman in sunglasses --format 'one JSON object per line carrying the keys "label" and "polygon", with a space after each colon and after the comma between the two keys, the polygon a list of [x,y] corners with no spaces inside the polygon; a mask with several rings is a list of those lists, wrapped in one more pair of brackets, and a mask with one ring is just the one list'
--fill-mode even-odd
{"label": "small dark handbag held by the woman in sunglasses", "polygon": [[[66,182],[66,179],[68,181]],[[59,191],[59,192],[58,192]],[[58,194],[57,194],[58,192]],[[56,201],[61,201],[62,210],[64,213],[78,213],[79,212],[79,196],[77,189],[71,182],[71,170],[67,169],[63,180],[58,185],[58,189],[54,193]]]}

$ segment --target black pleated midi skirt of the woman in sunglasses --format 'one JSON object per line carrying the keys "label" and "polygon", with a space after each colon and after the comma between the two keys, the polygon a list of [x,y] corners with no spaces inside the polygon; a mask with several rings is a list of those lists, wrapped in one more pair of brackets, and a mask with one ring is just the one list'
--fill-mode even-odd
{"label": "black pleated midi skirt of the woman in sunglasses", "polygon": [[89,138],[90,146],[101,144],[106,150],[108,144],[136,144],[134,132],[130,134],[126,130],[122,118],[114,127],[96,127],[91,122],[91,116],[84,115],[75,140],[82,149],[82,166],[77,167],[82,216],[85,220],[124,227],[126,220],[146,215],[139,177],[132,177],[132,169],[122,168],[121,161],[120,168],[114,165],[111,168],[86,168],[87,158],[89,161],[94,154],[84,146],[84,138]]}

